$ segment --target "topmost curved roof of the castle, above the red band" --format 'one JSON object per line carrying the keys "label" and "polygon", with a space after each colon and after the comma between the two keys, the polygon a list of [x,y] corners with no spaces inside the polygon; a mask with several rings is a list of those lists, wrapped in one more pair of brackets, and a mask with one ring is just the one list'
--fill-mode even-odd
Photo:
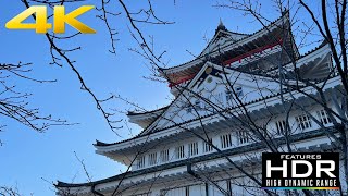
{"label": "topmost curved roof of the castle, above the red band", "polygon": [[[161,68],[159,72],[173,85],[191,79],[207,61],[228,60],[244,54],[252,49],[260,48],[265,44],[276,44],[282,40],[283,29],[289,28],[289,13],[284,12],[281,17],[271,22],[268,26],[253,34],[240,34],[227,30],[221,22],[214,37],[194,60],[172,68]],[[287,26],[287,27],[286,27]],[[289,29],[290,30],[290,29]],[[295,58],[299,53],[295,46],[291,33],[286,37],[284,46]],[[171,85],[171,86],[172,86]]]}

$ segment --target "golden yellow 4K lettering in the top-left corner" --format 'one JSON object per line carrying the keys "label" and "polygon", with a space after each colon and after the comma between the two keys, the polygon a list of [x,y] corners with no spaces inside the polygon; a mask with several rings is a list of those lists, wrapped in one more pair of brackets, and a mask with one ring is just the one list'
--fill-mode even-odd
{"label": "golden yellow 4K lettering in the top-left corner", "polygon": [[[95,34],[96,30],[79,22],[76,17],[94,9],[94,5],[83,5],[78,9],[65,14],[65,7],[57,5],[53,10],[53,33],[64,34],[65,23],[79,30],[83,34]],[[35,23],[23,23],[24,20],[36,15]],[[38,34],[46,34],[48,29],[52,28],[52,24],[47,22],[47,7],[33,5],[10,20],[7,25],[9,29],[35,29]]]}

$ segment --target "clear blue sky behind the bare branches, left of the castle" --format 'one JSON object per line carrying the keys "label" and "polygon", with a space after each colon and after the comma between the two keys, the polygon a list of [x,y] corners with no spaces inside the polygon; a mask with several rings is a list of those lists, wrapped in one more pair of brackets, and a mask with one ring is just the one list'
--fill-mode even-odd
{"label": "clear blue sky behind the bare branches, left of the castle", "polygon": [[[86,4],[94,4],[90,1]],[[138,8],[135,1],[126,1],[129,7]],[[220,19],[229,30],[252,33],[260,25],[244,17],[240,12],[216,9],[214,1],[153,1],[158,16],[174,21],[173,25],[145,26],[140,25],[146,35],[153,35],[156,47],[166,50],[165,59],[170,65],[176,65],[192,59],[186,51],[198,54],[206,47],[203,37],[211,38]],[[86,182],[83,168],[74,156],[77,152],[85,160],[92,180],[115,175],[125,167],[95,154],[92,144],[96,139],[112,143],[132,136],[128,130],[120,131],[123,137],[109,130],[101,113],[96,109],[90,96],[79,90],[76,75],[66,66],[49,65],[49,45],[44,35],[34,30],[8,30],[4,24],[11,17],[24,10],[20,0],[0,1],[0,62],[32,62],[32,76],[42,79],[57,79],[52,84],[38,84],[28,81],[13,79],[18,89],[33,93],[29,99],[33,107],[39,107],[44,114],[79,123],[72,126],[55,126],[46,133],[36,133],[12,120],[0,117],[1,124],[8,127],[0,133],[4,145],[0,147],[0,185],[17,186],[24,195],[53,195],[51,185],[42,179],[55,182]],[[75,8],[75,7],[74,7]],[[72,10],[74,8],[69,8]],[[263,4],[263,9],[272,7]],[[274,20],[278,17],[274,11],[264,12]],[[144,78],[150,74],[145,65],[146,60],[129,52],[136,47],[127,30],[125,15],[112,21],[120,34],[116,42],[117,56],[108,52],[109,40],[103,24],[95,17],[96,12],[89,12],[82,17],[86,24],[97,29],[96,35],[83,35],[71,42],[61,46],[83,47],[83,50],[72,54],[77,60],[76,68],[80,71],[87,85],[100,98],[110,93],[120,94],[147,109],[156,109],[170,102],[171,94],[166,84]],[[112,107],[119,110],[132,109],[121,101],[114,101]],[[120,119],[127,120],[124,114]],[[133,135],[140,131],[132,125]]]}

